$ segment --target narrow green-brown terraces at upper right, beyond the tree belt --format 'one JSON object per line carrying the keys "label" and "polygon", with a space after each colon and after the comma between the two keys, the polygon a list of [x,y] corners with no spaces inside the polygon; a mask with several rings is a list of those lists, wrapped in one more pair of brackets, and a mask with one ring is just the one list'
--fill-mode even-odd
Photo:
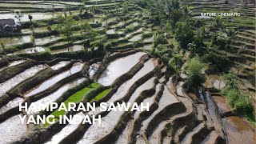
{"label": "narrow green-brown terraces at upper right, beyond the tree belt", "polygon": [[[187,1],[182,1],[186,3]],[[207,5],[207,6],[206,6]],[[224,17],[226,27],[234,27],[238,30],[238,35],[231,43],[230,50],[228,50],[227,57],[231,62],[237,64],[236,66],[241,69],[238,72],[241,78],[242,89],[248,90],[251,95],[255,95],[254,80],[251,79],[255,75],[255,6],[250,3],[246,8],[241,6],[239,1],[198,1],[191,2],[191,15],[195,18],[201,18],[205,22],[209,22],[210,18],[200,17],[200,13],[240,13],[240,17]],[[237,67],[234,67],[234,72],[237,73]],[[249,80],[250,79],[250,80]],[[255,99],[255,98],[254,98]],[[255,102],[255,100],[253,101]]]}

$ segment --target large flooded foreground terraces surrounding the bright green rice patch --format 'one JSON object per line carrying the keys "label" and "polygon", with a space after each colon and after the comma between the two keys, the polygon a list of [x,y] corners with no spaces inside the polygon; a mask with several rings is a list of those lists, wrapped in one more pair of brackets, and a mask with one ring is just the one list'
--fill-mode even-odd
{"label": "large flooded foreground terraces surrounding the bright green rice patch", "polygon": [[[63,58],[56,58],[50,62],[24,58],[8,59],[8,61],[2,59],[2,63],[9,62],[9,64],[2,68],[1,74],[7,70],[20,70],[22,73],[14,74],[10,79],[2,78],[0,118],[1,127],[5,130],[2,136],[8,138],[1,139],[1,143],[32,140],[55,143],[65,142],[67,139],[69,142],[77,142],[80,139],[78,143],[182,142],[202,141],[207,134],[210,134],[213,127],[210,123],[211,118],[203,116],[202,112],[202,115],[194,113],[197,108],[192,102],[178,97],[173,91],[174,87],[170,87],[172,82],[166,74],[165,66],[158,58],[152,58],[141,50],[115,52],[109,58],[111,61],[108,61],[106,70],[102,70],[100,65],[91,75],[91,77],[100,75],[96,81],[98,83],[93,83],[90,78],[85,77],[86,70],[94,66],[95,59],[88,62]],[[129,61],[130,58],[133,61]],[[24,67],[29,62],[34,66]],[[117,68],[118,66],[125,67]],[[114,70],[114,74],[111,70]],[[58,123],[46,127],[20,126],[18,123],[20,121],[18,115],[21,114],[18,113],[18,102],[36,103],[28,112],[22,113],[30,115],[40,114],[39,110],[46,106],[47,102],[90,102],[91,100],[107,103],[149,102],[150,111],[110,111],[102,114],[104,117],[101,124],[91,126],[82,124],[62,126]],[[96,110],[84,114],[92,116],[101,113]],[[72,114],[83,113],[72,112]],[[17,123],[18,129],[14,126],[14,122]],[[5,126],[8,125],[14,127],[6,130]],[[177,133],[170,132],[169,126],[174,126],[173,130]],[[190,134],[190,131],[194,131],[197,126],[200,130]],[[200,135],[201,138],[193,138],[194,134]],[[222,138],[221,134],[222,132],[216,136]]]}

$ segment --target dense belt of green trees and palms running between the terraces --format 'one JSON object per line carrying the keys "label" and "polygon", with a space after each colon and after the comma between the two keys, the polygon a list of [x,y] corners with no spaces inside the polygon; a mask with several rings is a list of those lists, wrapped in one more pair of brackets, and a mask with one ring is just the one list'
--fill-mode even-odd
{"label": "dense belt of green trees and palms running between the terraces", "polygon": [[[228,77],[227,86],[222,90],[222,94],[226,96],[230,106],[237,110],[238,114],[246,116],[250,122],[255,122],[254,106],[250,102],[250,96],[239,89],[238,75],[234,76],[231,72],[231,67],[235,65],[227,58],[229,51],[235,51],[230,45],[238,35],[238,30],[232,26],[224,26],[226,22],[220,16],[213,18],[210,22],[195,20],[190,17],[190,6],[180,4],[177,0],[158,2],[142,0],[137,4],[149,10],[154,26],[159,27],[151,54],[162,58],[163,62],[169,62],[169,69],[179,74],[184,59],[182,60],[182,55],[178,51],[190,51],[191,59],[188,60],[186,69],[188,74],[186,86],[197,87],[205,82],[201,69],[202,62],[206,63],[212,72]],[[163,35],[168,30],[170,34],[174,34],[178,42],[178,46],[174,46],[177,52],[165,46],[166,39]]]}

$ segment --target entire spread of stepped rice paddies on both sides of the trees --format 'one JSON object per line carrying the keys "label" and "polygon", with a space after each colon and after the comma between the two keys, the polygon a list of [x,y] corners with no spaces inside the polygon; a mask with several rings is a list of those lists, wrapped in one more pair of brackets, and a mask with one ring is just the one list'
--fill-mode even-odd
{"label": "entire spread of stepped rice paddies on both sides of the trees", "polygon": [[[217,76],[207,76],[205,87],[198,90],[198,102],[191,94],[186,94],[182,87],[186,64],[182,66],[181,74],[176,75],[166,62],[150,54],[154,37],[158,35],[157,28],[152,26],[150,14],[133,3],[128,3],[126,13],[122,12],[124,7],[121,5],[125,2],[121,0],[89,0],[85,5],[80,1],[1,0],[0,3],[0,18],[13,18],[10,11],[17,7],[22,10],[22,31],[0,35],[5,46],[0,49],[0,130],[3,132],[0,143],[232,143],[227,138],[234,134],[227,133],[232,133],[230,129],[234,125],[227,126],[225,122],[244,122],[238,117],[223,118],[221,115],[231,110],[214,92],[225,87]],[[217,9],[220,4],[223,2],[213,1],[207,6]],[[194,16],[206,7],[203,1],[192,2],[191,6]],[[237,6],[235,2],[234,6]],[[73,16],[79,15],[80,7],[85,8],[82,12],[93,8],[102,10],[94,14],[94,18],[77,19],[74,25],[88,21],[98,32],[97,38],[90,42],[90,49],[83,46],[86,40],[81,28],[74,30],[71,43],[63,34],[47,30],[47,26],[54,27],[54,22],[50,23],[54,18],[64,15],[65,7],[69,7],[71,13],[66,14]],[[222,7],[230,10],[230,5],[223,4]],[[111,13],[106,14],[105,10]],[[246,18],[254,17],[252,10],[255,8],[250,7],[243,13]],[[29,14],[33,16],[34,30],[30,29]],[[252,25],[248,23],[248,27]],[[232,43],[239,54],[230,51],[228,58],[245,68],[238,72],[239,78],[249,85],[244,89],[254,94],[255,87],[247,79],[255,72],[255,29],[241,26],[239,30],[239,40]],[[106,39],[105,46],[110,46],[105,47],[106,52],[94,46],[102,39]],[[173,41],[171,37],[165,44],[170,50],[178,48],[171,43]],[[182,50],[178,52],[182,53]],[[186,59],[186,53],[183,54]],[[19,102],[34,102],[35,105],[30,105],[27,112],[19,112]],[[95,102],[97,106],[100,102],[108,105],[114,102],[115,106],[118,102],[149,102],[150,111],[102,112],[99,107],[88,112],[67,113],[58,108],[51,112],[41,110],[49,102]],[[102,123],[20,124],[19,115],[36,114],[53,114],[57,121],[60,115],[92,118],[101,114]],[[245,137],[248,132],[254,142],[254,130],[247,123],[242,124],[247,129],[236,136],[244,134]]]}

